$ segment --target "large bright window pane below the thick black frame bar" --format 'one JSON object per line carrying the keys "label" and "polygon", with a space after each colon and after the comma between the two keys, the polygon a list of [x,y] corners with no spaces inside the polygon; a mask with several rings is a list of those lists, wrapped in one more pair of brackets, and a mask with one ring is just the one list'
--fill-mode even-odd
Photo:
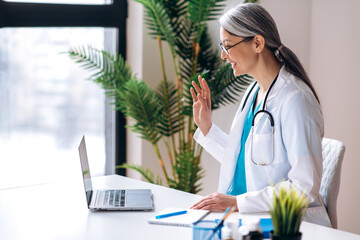
{"label": "large bright window pane below the thick black frame bar", "polygon": [[0,29],[0,189],[77,176],[83,134],[92,175],[104,174],[104,93],[64,52],[104,49],[109,30]]}

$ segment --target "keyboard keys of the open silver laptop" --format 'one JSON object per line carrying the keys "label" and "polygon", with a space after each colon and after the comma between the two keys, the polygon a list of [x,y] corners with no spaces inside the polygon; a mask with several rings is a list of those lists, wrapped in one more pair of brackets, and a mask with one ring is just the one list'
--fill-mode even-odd
{"label": "keyboard keys of the open silver laptop", "polygon": [[99,190],[96,203],[108,207],[124,207],[125,190]]}

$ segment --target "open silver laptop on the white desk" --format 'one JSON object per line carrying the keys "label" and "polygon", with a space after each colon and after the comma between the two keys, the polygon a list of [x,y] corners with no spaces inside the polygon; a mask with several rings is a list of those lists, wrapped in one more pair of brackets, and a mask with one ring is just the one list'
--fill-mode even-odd
{"label": "open silver laptop on the white desk", "polygon": [[84,136],[79,145],[79,154],[86,200],[90,210],[150,211],[154,209],[150,189],[93,190]]}

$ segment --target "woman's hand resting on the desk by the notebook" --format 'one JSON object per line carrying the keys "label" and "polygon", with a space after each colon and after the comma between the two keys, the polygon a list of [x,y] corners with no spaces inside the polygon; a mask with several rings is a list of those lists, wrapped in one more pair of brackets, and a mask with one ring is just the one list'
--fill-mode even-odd
{"label": "woman's hand resting on the desk by the notebook", "polygon": [[191,209],[220,210],[225,211],[228,207],[235,207],[238,211],[236,197],[222,193],[212,193],[191,206]]}

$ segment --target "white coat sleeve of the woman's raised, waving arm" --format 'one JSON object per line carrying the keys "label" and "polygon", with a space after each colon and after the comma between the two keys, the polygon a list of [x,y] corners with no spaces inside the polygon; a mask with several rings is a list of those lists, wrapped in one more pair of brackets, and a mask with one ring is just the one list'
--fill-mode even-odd
{"label": "white coat sleeve of the woman's raised, waving arm", "polygon": [[211,124],[211,128],[206,136],[204,136],[198,128],[195,131],[194,139],[208,153],[210,153],[220,163],[224,155],[228,135],[222,131],[215,123]]}

